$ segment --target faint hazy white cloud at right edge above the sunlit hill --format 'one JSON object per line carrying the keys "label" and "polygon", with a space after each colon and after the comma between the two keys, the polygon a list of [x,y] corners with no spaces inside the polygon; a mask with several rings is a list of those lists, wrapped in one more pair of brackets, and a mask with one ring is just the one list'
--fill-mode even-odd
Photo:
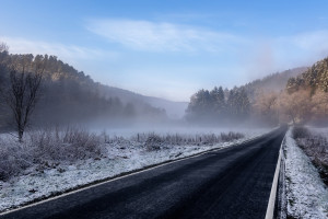
{"label": "faint hazy white cloud at right edge above the sunlit hill", "polygon": [[246,47],[241,65],[249,79],[311,66],[328,56],[328,31],[303,32],[276,38],[255,39]]}

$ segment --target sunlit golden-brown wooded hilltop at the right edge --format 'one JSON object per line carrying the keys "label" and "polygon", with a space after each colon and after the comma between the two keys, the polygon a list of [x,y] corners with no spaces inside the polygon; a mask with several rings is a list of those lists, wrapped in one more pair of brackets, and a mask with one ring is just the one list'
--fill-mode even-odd
{"label": "sunlit golden-brown wooded hilltop at the right edge", "polygon": [[328,92],[328,58],[316,62],[298,77],[291,78],[286,89],[289,93],[298,90],[311,90],[312,94],[316,91]]}

